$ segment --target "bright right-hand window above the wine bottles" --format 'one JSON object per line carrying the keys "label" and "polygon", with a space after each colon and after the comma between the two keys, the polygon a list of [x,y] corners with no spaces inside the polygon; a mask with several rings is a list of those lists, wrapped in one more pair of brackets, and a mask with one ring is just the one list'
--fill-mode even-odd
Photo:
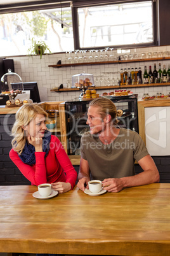
{"label": "bright right-hand window above the wine bottles", "polygon": [[77,8],[80,48],[154,43],[152,1]]}

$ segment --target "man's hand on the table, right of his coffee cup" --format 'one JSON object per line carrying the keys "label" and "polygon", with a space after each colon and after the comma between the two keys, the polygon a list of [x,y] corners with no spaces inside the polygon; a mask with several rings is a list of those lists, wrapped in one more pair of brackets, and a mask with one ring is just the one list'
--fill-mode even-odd
{"label": "man's hand on the table, right of his coffee cup", "polygon": [[110,178],[102,181],[103,189],[108,192],[119,192],[124,188],[124,183],[121,178]]}

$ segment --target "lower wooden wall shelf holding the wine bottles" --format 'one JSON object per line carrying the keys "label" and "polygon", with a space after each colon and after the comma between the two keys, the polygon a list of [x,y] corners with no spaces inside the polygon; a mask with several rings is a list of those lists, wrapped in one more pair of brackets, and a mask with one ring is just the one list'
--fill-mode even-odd
{"label": "lower wooden wall shelf holding the wine bottles", "polygon": [[[140,87],[156,87],[156,86],[164,86],[170,85],[169,83],[144,83],[141,85],[116,85],[116,86],[95,86],[88,87],[88,89],[98,89],[98,90],[106,90],[106,89],[128,89],[128,88],[140,88]],[[51,89],[51,92],[70,92],[70,91],[79,91],[79,88],[68,88],[68,89]]]}

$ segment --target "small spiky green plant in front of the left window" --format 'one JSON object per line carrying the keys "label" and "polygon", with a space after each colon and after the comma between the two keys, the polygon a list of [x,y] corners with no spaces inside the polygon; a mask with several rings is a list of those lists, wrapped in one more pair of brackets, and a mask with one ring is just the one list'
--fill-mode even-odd
{"label": "small spiky green plant in front of the left window", "polygon": [[49,47],[46,45],[44,41],[36,41],[34,38],[32,38],[32,45],[28,49],[29,55],[40,55],[40,59],[42,58],[42,54],[47,53],[47,50],[49,53],[51,51],[49,50]]}

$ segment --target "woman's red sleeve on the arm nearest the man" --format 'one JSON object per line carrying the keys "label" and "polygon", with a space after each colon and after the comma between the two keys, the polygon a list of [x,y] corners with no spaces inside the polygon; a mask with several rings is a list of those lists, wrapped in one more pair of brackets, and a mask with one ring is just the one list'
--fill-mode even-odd
{"label": "woman's red sleeve on the arm nearest the man", "polygon": [[72,188],[74,188],[75,181],[77,180],[77,172],[72,166],[72,163],[58,138],[56,138],[55,145],[55,155],[60,163],[60,166],[62,166],[64,173],[66,174],[66,182],[69,182]]}

